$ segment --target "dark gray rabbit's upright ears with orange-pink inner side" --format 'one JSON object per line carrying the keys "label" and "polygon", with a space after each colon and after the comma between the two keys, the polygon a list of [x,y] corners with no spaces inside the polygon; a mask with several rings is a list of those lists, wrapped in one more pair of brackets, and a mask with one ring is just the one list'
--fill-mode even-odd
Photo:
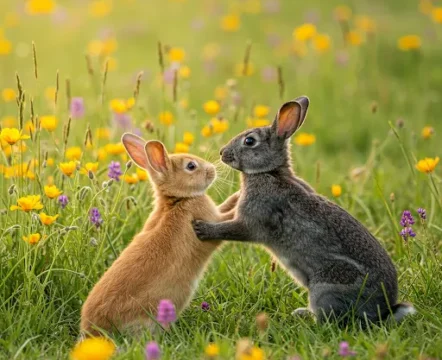
{"label": "dark gray rabbit's upright ears with orange-pink inner side", "polygon": [[300,96],[282,105],[272,125],[276,135],[284,139],[292,136],[303,124],[309,103],[307,96]]}

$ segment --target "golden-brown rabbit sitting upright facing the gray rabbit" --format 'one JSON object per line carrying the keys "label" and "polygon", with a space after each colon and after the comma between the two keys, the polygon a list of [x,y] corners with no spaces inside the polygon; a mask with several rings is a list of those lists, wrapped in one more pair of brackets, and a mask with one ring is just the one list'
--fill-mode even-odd
{"label": "golden-brown rabbit sitting upright facing the gray rabbit", "polygon": [[171,300],[177,312],[183,310],[221,244],[199,241],[192,221],[232,219],[238,200],[235,194],[217,209],[205,195],[216,177],[212,164],[188,154],[168,156],[161,142],[146,143],[133,134],[124,134],[122,141],[132,160],[149,172],[155,207],[143,230],[89,294],[81,312],[85,335],[151,327],[148,314],[155,314],[162,299]]}

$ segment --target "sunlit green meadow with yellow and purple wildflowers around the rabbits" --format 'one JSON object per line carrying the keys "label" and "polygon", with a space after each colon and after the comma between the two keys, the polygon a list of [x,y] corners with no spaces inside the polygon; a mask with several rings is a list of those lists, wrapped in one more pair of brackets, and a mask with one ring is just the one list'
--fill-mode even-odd
{"label": "sunlit green meadow with yellow and purple wildflowers around the rabbits", "polygon": [[[0,0],[0,358],[441,358],[441,49],[440,1]],[[221,203],[240,184],[219,149],[301,95],[296,174],[379,239],[417,314],[295,318],[307,291],[229,243],[167,331],[73,350],[89,291],[153,206],[122,134],[216,163]]]}

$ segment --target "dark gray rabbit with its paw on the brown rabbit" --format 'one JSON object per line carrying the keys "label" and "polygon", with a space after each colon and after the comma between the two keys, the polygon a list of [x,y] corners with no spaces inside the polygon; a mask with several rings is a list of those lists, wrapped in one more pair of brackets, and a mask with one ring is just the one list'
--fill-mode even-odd
{"label": "dark gray rabbit with its paw on the brown rabbit", "polygon": [[308,288],[309,307],[320,323],[334,318],[346,324],[350,316],[376,323],[389,315],[400,321],[415,310],[396,302],[397,274],[387,252],[359,221],[291,169],[289,139],[308,106],[304,96],[289,101],[271,126],[244,131],[221,149],[222,161],[242,172],[237,213],[231,221],[195,221],[195,232],[200,240],[267,247]]}

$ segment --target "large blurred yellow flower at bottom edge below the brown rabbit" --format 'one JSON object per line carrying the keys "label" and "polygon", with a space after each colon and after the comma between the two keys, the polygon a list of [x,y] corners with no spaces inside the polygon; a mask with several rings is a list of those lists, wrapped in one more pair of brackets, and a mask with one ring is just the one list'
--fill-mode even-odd
{"label": "large blurred yellow flower at bottom edge below the brown rabbit", "polygon": [[112,341],[95,337],[86,339],[71,351],[72,360],[108,360],[115,352],[115,345]]}

